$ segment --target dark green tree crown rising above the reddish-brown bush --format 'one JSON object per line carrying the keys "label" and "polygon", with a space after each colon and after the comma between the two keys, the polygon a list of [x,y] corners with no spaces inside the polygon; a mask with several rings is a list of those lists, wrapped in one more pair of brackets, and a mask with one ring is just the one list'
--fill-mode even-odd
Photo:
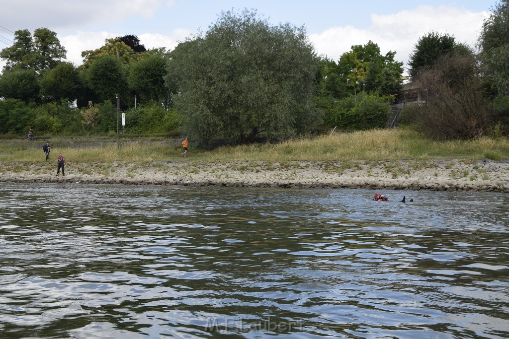
{"label": "dark green tree crown rising above the reddish-brown bush", "polygon": [[455,46],[455,38],[448,34],[430,32],[421,37],[408,61],[410,77],[415,78],[420,71],[432,68],[442,55],[453,52]]}

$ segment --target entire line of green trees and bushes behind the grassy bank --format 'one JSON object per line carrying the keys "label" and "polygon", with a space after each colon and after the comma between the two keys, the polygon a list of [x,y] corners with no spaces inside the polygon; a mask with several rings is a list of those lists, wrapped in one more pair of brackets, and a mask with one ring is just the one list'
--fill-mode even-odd
{"label": "entire line of green trees and bushes behind the grassy bank", "polygon": [[[435,138],[505,135],[509,111],[509,0],[483,25],[480,52],[435,32],[410,55],[412,85],[427,100],[403,122]],[[222,12],[174,50],[136,36],[107,39],[66,61],[56,34],[15,32],[0,51],[0,134],[114,134],[117,98],[130,134],[186,135],[213,146],[278,141],[332,127],[384,128],[404,101],[403,63],[369,41],[337,60],[317,55],[304,27],[271,25],[253,10]]]}

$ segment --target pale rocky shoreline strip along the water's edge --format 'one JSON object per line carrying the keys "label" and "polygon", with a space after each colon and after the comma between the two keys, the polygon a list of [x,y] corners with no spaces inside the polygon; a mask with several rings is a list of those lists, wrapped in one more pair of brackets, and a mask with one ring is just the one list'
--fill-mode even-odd
{"label": "pale rocky shoreline strip along the water's edge", "polygon": [[[51,173],[51,174],[49,174]],[[509,162],[415,161],[115,162],[51,165],[0,163],[0,182],[150,184],[271,188],[477,191],[509,193]]]}

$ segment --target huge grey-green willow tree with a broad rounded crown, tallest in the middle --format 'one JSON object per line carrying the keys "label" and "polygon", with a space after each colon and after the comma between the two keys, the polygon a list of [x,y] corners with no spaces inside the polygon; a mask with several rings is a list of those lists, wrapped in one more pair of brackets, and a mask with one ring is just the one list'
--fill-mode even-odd
{"label": "huge grey-green willow tree with a broad rounded crown, tallest in the middle", "polygon": [[200,37],[172,52],[168,85],[183,131],[207,145],[284,139],[316,125],[312,102],[317,58],[305,30],[270,25],[256,12],[223,12]]}

